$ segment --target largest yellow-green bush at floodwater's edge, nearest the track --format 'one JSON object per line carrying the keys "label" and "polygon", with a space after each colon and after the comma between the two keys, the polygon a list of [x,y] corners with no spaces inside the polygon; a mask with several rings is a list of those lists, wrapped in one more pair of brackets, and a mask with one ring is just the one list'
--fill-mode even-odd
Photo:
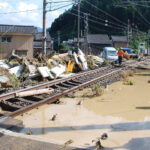
{"label": "largest yellow-green bush at floodwater's edge, nearest the track", "polygon": [[92,92],[93,95],[101,96],[104,93],[104,88],[100,85],[100,83],[97,83],[93,86]]}

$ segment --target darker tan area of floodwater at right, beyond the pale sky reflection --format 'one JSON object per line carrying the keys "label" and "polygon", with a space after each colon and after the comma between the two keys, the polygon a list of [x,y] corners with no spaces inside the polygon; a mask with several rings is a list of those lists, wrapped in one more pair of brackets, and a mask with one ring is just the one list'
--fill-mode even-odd
{"label": "darker tan area of floodwater at right, beyond the pale sky reflection", "polygon": [[133,86],[114,83],[107,87],[103,96],[87,99],[84,106],[96,114],[143,120],[150,114],[150,72],[138,71],[130,80]]}

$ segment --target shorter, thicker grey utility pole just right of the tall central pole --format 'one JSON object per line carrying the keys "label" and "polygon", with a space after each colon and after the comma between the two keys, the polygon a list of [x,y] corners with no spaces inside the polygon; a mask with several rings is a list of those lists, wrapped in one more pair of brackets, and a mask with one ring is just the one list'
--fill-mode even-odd
{"label": "shorter, thicker grey utility pole just right of the tall central pole", "polygon": [[85,52],[89,54],[89,48],[88,48],[88,32],[89,32],[89,24],[88,24],[88,15],[87,13],[84,13],[84,24],[85,24]]}

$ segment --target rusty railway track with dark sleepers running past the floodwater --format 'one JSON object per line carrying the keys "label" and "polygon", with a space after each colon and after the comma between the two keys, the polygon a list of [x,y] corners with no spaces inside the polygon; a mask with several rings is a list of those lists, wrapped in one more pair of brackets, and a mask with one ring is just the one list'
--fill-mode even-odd
{"label": "rusty railway track with dark sleepers running past the floodwater", "polygon": [[[15,117],[43,104],[53,103],[70,92],[92,86],[98,82],[100,82],[101,85],[111,84],[120,79],[121,71],[127,68],[128,65],[125,65],[122,68],[107,66],[79,73],[69,78],[54,80],[30,88],[2,94],[0,95],[0,105],[4,110],[11,111],[7,116]],[[23,98],[16,97],[16,93],[44,88],[53,89],[53,92],[50,94],[41,94]]]}

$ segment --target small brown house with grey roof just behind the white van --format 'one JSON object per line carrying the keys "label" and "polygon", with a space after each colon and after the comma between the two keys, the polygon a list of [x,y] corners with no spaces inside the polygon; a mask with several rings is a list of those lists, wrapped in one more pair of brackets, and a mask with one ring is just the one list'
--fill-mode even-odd
{"label": "small brown house with grey roof just behind the white van", "polygon": [[111,36],[111,38],[112,38],[113,46],[115,48],[127,47],[127,45],[128,45],[127,36],[113,35],[113,36]]}

